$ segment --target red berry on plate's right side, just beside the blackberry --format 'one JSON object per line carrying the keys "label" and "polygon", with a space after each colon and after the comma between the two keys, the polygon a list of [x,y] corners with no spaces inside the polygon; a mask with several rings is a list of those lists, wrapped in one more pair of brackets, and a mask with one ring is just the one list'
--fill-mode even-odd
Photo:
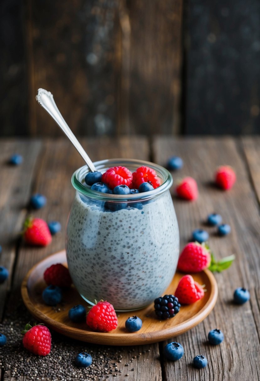
{"label": "red berry on plate's right side, just beside the blackberry", "polygon": [[180,279],[174,295],[180,304],[191,304],[203,298],[204,289],[203,286],[194,281],[191,275],[184,275]]}

